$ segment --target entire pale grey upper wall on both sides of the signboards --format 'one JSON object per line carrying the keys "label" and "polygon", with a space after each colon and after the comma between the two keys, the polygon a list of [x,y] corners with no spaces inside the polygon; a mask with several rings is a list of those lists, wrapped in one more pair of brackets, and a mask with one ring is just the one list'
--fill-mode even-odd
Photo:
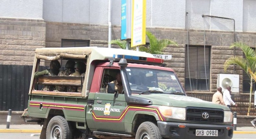
{"label": "entire pale grey upper wall on both sides of the signboards", "polygon": [[[121,25],[121,1],[112,0],[112,25]],[[146,26],[256,32],[254,0],[146,0]],[[186,16],[186,12],[188,15]],[[43,19],[52,22],[108,24],[108,0],[44,0]]]}

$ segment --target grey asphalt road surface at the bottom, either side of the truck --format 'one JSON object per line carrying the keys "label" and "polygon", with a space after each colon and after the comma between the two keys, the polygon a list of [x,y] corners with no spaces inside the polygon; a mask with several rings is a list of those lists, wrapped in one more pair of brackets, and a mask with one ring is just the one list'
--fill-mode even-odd
{"label": "grey asphalt road surface at the bottom, either side of the truck", "polygon": [[[0,133],[1,139],[39,139],[39,134],[31,133]],[[232,139],[255,139],[256,134],[234,134]]]}

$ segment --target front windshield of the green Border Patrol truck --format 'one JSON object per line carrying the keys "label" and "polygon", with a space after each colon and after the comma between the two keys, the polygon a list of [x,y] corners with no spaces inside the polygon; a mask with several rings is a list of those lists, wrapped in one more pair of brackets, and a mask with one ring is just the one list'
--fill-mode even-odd
{"label": "front windshield of the green Border Patrol truck", "polygon": [[133,93],[184,94],[174,72],[129,67],[126,74]]}

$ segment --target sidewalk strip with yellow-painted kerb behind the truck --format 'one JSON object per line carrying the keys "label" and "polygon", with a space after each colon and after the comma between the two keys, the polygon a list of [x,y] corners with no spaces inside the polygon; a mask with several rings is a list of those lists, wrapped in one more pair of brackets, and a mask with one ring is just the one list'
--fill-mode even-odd
{"label": "sidewalk strip with yellow-painted kerb behind the truck", "polygon": [[[5,124],[0,124],[0,133],[41,133],[42,127],[38,124],[11,124],[6,129]],[[256,128],[252,126],[237,127],[234,134],[256,134]]]}

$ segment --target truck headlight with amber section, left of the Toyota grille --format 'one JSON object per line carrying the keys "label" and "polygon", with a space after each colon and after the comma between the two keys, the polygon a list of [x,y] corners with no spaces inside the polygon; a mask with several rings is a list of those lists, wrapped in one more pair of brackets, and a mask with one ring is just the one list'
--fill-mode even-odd
{"label": "truck headlight with amber section, left of the Toyota grille", "polygon": [[186,109],[180,107],[160,106],[159,110],[164,117],[186,120]]}

